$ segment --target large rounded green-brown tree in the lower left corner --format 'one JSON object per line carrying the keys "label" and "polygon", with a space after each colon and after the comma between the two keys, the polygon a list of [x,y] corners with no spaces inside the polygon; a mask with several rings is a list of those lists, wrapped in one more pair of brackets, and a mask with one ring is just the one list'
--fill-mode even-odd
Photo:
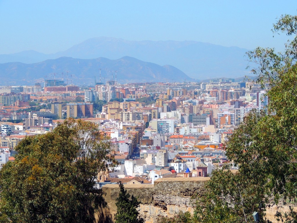
{"label": "large rounded green-brown tree in the lower left corner", "polygon": [[67,119],[15,150],[0,172],[1,222],[94,222],[102,202],[97,174],[117,163],[95,124]]}

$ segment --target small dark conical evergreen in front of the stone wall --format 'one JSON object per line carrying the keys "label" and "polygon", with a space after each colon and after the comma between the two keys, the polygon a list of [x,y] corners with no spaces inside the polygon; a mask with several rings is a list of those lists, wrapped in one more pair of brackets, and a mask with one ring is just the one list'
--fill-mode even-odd
{"label": "small dark conical evergreen in front of the stone wall", "polygon": [[117,213],[115,216],[116,223],[143,223],[143,218],[138,218],[139,212],[136,208],[140,202],[133,195],[127,193],[124,185],[120,182],[120,193],[116,199]]}

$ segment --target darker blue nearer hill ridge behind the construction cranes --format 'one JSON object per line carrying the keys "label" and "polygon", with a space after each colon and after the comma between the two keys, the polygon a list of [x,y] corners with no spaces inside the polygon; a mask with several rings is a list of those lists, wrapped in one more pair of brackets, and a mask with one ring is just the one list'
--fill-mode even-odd
{"label": "darker blue nearer hill ridge behind the construction cranes", "polygon": [[69,71],[69,84],[94,84],[95,76],[97,82],[99,82],[99,68],[102,68],[102,81],[111,80],[112,74],[113,79],[115,79],[115,70],[118,71],[117,81],[120,83],[193,80],[176,67],[170,65],[160,66],[129,56],[116,60],[102,57],[97,59],[60,57],[33,64],[20,62],[0,64],[0,85],[7,84],[7,82],[10,85],[34,84],[45,79],[45,76],[48,79],[54,78],[53,73],[56,73],[57,79],[64,78],[66,83],[67,71]]}

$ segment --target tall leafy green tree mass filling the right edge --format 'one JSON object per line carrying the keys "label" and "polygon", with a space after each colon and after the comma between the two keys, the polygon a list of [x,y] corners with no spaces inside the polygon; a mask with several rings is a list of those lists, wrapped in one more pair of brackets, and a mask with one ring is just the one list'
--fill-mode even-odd
{"label": "tall leafy green tree mass filling the right edge", "polygon": [[[296,35],[297,17],[284,15],[274,32]],[[288,205],[276,218],[296,222],[297,201],[297,38],[285,51],[257,48],[248,52],[259,67],[257,83],[269,83],[268,114],[251,112],[225,145],[226,155],[238,165],[238,172],[215,170],[198,197],[195,216],[199,222],[269,222],[265,211],[271,205]]]}

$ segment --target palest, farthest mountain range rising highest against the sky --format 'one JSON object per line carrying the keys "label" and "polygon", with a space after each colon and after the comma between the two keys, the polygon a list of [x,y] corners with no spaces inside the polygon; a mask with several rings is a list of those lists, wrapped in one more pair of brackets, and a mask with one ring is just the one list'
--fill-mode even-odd
{"label": "palest, farthest mountain range rising highest against the sky", "polygon": [[56,54],[41,54],[23,51],[18,54],[0,55],[0,63],[34,63],[45,59],[68,56],[81,59],[105,57],[118,59],[131,56],[158,65],[170,64],[188,76],[197,79],[248,75],[244,57],[247,49],[224,47],[196,41],[129,41],[117,38],[98,37],[74,45]]}

